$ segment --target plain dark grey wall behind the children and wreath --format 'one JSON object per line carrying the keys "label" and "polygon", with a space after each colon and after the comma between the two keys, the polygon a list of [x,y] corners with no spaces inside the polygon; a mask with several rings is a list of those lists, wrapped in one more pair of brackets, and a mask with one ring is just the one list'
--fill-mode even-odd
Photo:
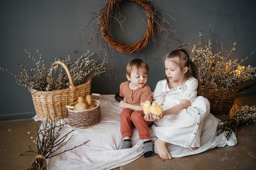
{"label": "plain dark grey wall behind the children and wreath", "polygon": [[[230,50],[234,41],[237,41],[233,58],[246,57],[256,47],[256,3],[253,0],[153,0],[151,2],[175,18],[172,20],[166,16],[166,20],[172,23],[180,36],[179,39],[184,43],[198,41],[198,32],[202,31],[204,40],[207,41],[209,36],[212,36],[219,48],[222,44],[224,49]],[[68,53],[76,60],[86,50],[95,52],[96,59],[102,60],[97,53],[97,47],[93,48],[87,44],[90,30],[85,32],[84,41],[78,46],[77,40],[92,17],[92,12],[102,8],[103,4],[105,4],[103,0],[1,1],[0,67],[17,72],[19,71],[17,63],[32,66],[33,61],[28,59],[24,49],[30,51],[32,55],[36,55],[36,49],[40,49],[47,66],[50,66],[54,58],[65,58]],[[140,7],[132,3],[124,3],[121,11],[126,17],[123,23],[125,32],[116,24],[113,27],[113,36],[125,43],[134,43],[145,34],[146,25],[143,22],[145,14],[141,12]],[[168,39],[168,44],[174,47],[182,45],[171,38]],[[73,53],[76,47],[78,52]],[[152,39],[146,48],[137,53],[118,53],[113,50],[115,73],[111,76],[93,78],[92,92],[100,94],[118,92],[120,82],[125,81],[124,68],[127,62],[136,57],[144,59],[150,66],[148,84],[154,90],[157,81],[164,78],[163,62],[160,59],[170,50],[173,50],[172,46],[165,48],[155,46]],[[244,64],[256,66],[255,58],[256,55],[253,55]],[[13,78],[3,71],[0,72],[0,77],[0,120],[27,118],[35,114],[28,89],[17,85]],[[252,83],[255,81],[243,83],[243,86]]]}

